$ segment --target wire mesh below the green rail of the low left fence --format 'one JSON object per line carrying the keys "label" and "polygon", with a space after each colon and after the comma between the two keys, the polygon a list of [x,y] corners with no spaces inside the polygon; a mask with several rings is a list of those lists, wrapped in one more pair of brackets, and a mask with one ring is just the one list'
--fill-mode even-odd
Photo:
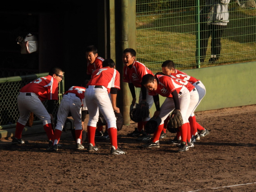
{"label": "wire mesh below the green rail of the low left fence", "polygon": [[[17,105],[17,96],[19,90],[32,81],[33,79],[0,83],[0,125],[17,123],[17,120],[19,118],[19,111]],[[47,101],[44,101],[43,104],[47,109]],[[59,101],[55,101],[53,116],[55,116],[58,108]],[[37,120],[39,119],[34,115],[34,121]]]}

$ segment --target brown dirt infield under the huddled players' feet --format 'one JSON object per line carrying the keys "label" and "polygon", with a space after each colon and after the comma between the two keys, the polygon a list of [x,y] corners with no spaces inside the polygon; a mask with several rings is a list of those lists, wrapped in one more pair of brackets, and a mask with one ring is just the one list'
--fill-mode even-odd
{"label": "brown dirt infield under the huddled players' feet", "polygon": [[167,144],[174,137],[169,132],[160,148],[141,149],[143,143],[126,137],[135,123],[118,133],[127,155],[110,155],[109,140],[96,140],[97,153],[76,151],[70,131],[63,132],[58,152],[45,150],[46,134],[23,137],[29,141],[24,146],[1,139],[0,191],[255,192],[256,105],[196,116],[210,135],[183,153]]}

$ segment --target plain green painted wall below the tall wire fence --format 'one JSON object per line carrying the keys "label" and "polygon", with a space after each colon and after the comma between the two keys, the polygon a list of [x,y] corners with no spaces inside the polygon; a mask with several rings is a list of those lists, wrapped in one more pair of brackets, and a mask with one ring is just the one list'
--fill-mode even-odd
{"label": "plain green painted wall below the tall wire fence", "polygon": [[[196,111],[256,104],[256,62],[188,69],[183,72],[200,79],[206,87],[206,96]],[[137,97],[139,91],[136,90]],[[165,97],[160,96],[160,103],[164,101]],[[155,105],[151,115],[154,111]]]}

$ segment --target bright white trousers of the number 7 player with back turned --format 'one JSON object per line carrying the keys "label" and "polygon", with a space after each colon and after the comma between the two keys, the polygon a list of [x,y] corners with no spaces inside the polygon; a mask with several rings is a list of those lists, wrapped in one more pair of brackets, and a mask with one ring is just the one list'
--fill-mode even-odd
{"label": "bright white trousers of the number 7 player with back turned", "polygon": [[108,123],[108,128],[116,128],[116,117],[107,89],[105,87],[101,89],[89,86],[85,91],[85,97],[90,116],[88,126],[96,127],[99,119],[98,110],[100,110]]}

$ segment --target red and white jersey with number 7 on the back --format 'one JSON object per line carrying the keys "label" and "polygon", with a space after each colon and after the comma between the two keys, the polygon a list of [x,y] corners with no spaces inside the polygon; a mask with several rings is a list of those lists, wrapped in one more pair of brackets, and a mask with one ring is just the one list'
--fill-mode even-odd
{"label": "red and white jersey with number 7 on the back", "polygon": [[116,69],[109,67],[96,69],[92,73],[91,80],[87,85],[104,86],[108,89],[108,93],[110,93],[111,87],[120,89],[120,73]]}

